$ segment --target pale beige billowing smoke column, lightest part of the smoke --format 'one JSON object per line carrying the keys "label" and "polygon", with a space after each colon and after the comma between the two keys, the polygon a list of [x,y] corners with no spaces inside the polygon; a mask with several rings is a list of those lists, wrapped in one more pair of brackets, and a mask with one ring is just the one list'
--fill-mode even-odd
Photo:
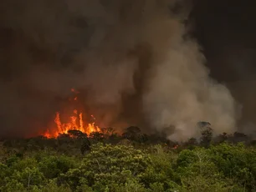
{"label": "pale beige billowing smoke column, lightest part of the smoke", "polygon": [[228,88],[208,77],[197,43],[176,32],[165,51],[156,55],[155,73],[144,95],[151,123],[158,129],[174,125],[168,137],[177,140],[197,136],[194,125],[201,120],[210,122],[216,134],[233,131],[235,101]]}

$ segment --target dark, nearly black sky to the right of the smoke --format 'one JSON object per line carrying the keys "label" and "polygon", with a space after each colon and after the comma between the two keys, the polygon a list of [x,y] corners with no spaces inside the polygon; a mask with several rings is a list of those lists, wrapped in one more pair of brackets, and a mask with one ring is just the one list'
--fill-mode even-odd
{"label": "dark, nearly black sky to the right of the smoke", "polygon": [[256,2],[196,0],[191,20],[212,77],[243,105],[243,122],[255,123]]}

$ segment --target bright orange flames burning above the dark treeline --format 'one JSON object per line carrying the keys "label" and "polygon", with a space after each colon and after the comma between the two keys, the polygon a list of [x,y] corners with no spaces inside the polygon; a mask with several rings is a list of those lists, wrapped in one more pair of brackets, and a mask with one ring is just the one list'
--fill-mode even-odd
{"label": "bright orange flames burning above the dark treeline", "polygon": [[[79,93],[75,91],[74,88],[71,89],[73,93]],[[74,101],[77,101],[77,96],[74,97]],[[95,121],[95,117],[90,115],[91,118]],[[69,130],[79,130],[84,134],[90,134],[92,132],[100,132],[100,128],[95,125],[95,122],[86,124],[84,122],[84,116],[81,112],[78,112],[77,109],[74,109],[73,114],[69,117],[67,123],[62,123],[60,120],[59,112],[56,113],[54,119],[55,127],[52,129],[47,129],[44,133],[44,136],[47,138],[56,138],[59,134],[68,134]]]}

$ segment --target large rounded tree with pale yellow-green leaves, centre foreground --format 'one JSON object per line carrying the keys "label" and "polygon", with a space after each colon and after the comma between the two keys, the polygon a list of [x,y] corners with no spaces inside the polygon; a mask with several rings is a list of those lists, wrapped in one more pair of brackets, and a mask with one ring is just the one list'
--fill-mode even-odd
{"label": "large rounded tree with pale yellow-green leaves, centre foreground", "polygon": [[98,143],[92,145],[79,169],[70,169],[62,180],[71,184],[72,189],[82,181],[97,191],[114,189],[145,172],[149,162],[148,155],[131,146]]}

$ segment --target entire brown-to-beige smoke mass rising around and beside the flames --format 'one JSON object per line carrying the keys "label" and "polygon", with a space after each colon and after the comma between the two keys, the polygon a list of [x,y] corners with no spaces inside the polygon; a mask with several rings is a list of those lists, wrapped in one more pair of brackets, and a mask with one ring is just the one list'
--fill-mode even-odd
{"label": "entire brown-to-beige smoke mass rising around and beside the flames", "polygon": [[198,121],[235,128],[232,95],[187,36],[184,1],[4,0],[0,11],[2,134],[44,129],[70,88],[100,126],[177,140],[197,136]]}

